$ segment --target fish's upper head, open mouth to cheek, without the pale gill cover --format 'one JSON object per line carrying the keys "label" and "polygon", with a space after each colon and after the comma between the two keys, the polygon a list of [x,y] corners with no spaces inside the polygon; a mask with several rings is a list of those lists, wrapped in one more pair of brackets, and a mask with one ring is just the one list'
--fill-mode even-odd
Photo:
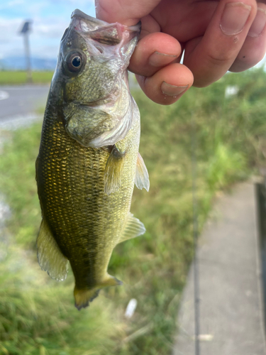
{"label": "fish's upper head, open mouth to cheek, without the pale gill cover", "polygon": [[64,100],[90,104],[110,95],[128,67],[140,24],[106,23],[75,10],[60,43],[53,80],[60,77]]}

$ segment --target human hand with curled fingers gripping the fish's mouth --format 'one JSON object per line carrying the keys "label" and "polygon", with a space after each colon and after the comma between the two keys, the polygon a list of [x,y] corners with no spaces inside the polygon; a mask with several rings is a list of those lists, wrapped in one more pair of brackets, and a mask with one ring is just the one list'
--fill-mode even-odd
{"label": "human hand with curled fingers gripping the fish's mouth", "polygon": [[266,51],[266,5],[255,0],[96,0],[96,16],[127,26],[141,20],[128,68],[158,104],[247,70]]}

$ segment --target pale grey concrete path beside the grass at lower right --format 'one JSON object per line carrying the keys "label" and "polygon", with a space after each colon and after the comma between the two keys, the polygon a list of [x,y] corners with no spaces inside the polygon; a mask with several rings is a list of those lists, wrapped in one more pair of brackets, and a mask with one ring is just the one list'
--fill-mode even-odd
{"label": "pale grey concrete path beside the grass at lower right", "polygon": [[[255,186],[236,186],[199,239],[201,355],[266,355],[255,209]],[[173,354],[194,355],[193,268],[178,326]]]}

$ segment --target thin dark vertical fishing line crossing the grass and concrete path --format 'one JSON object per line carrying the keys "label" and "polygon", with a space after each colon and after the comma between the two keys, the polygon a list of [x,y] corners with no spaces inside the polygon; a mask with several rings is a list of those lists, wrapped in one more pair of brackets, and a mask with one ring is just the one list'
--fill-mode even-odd
{"label": "thin dark vertical fishing line crossing the grass and concrete path", "polygon": [[194,262],[193,262],[193,271],[194,271],[194,326],[195,326],[195,355],[200,355],[200,346],[199,346],[199,259],[197,253],[198,246],[198,235],[199,235],[199,226],[198,226],[198,205],[197,205],[197,186],[196,186],[196,173],[197,173],[197,160],[196,160],[196,123],[193,119],[194,115],[192,114],[192,203],[193,203],[193,248],[194,248]]}

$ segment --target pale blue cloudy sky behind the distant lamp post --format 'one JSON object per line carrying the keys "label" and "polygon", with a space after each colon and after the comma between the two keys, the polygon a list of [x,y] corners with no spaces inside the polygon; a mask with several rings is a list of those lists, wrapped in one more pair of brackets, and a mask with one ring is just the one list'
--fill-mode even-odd
{"label": "pale blue cloudy sky behind the distant lamp post", "polygon": [[24,21],[31,20],[31,55],[57,58],[74,9],[95,17],[94,0],[0,0],[0,60],[24,55]]}

